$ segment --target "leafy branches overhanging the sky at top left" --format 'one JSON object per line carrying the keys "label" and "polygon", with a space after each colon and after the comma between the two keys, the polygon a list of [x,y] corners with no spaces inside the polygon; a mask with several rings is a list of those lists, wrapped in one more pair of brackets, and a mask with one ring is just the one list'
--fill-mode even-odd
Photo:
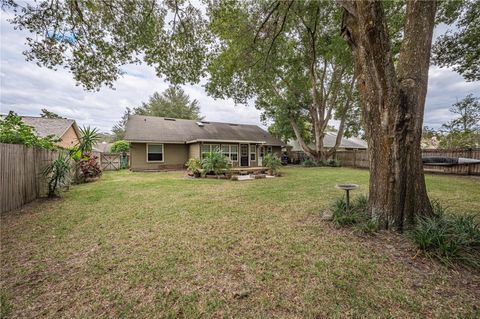
{"label": "leafy branches overhanging the sky at top left", "polygon": [[172,83],[197,82],[209,34],[200,8],[188,1],[8,0],[11,21],[34,36],[27,59],[67,68],[87,90],[112,86],[122,66],[145,62]]}

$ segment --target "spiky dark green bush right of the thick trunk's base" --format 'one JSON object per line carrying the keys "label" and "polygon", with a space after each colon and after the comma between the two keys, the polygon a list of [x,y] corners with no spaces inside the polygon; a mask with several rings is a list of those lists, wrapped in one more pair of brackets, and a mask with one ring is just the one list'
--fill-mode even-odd
{"label": "spiky dark green bush right of the thick trunk's base", "polygon": [[480,267],[480,225],[475,215],[447,212],[432,202],[434,216],[417,219],[411,237],[419,249],[446,264]]}

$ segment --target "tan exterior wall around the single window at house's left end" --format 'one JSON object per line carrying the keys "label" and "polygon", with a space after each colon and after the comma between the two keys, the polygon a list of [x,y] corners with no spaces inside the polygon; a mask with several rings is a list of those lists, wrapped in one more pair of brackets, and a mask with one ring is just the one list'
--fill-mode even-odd
{"label": "tan exterior wall around the single window at house's left end", "polygon": [[187,144],[163,144],[163,162],[149,163],[147,162],[147,144],[130,143],[130,169],[132,171],[183,169],[188,156],[189,145]]}

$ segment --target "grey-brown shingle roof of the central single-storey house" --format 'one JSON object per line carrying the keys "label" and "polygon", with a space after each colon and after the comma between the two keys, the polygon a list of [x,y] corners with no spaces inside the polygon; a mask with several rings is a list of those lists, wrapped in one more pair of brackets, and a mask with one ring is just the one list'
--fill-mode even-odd
{"label": "grey-brown shingle roof of the central single-storey house", "polygon": [[198,122],[141,115],[129,116],[125,139],[130,142],[248,141],[268,145],[285,145],[256,125]]}

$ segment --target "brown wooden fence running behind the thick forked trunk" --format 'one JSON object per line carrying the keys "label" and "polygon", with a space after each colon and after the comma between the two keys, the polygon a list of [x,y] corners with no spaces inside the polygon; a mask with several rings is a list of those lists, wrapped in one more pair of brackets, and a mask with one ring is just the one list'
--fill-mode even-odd
{"label": "brown wooden fence running behind the thick forked trunk", "polygon": [[[422,156],[466,157],[480,160],[480,149],[435,149],[422,150]],[[342,166],[369,168],[367,150],[337,151],[335,159]],[[436,172],[457,175],[480,175],[480,164],[453,165],[453,166],[424,166],[425,172]]]}

